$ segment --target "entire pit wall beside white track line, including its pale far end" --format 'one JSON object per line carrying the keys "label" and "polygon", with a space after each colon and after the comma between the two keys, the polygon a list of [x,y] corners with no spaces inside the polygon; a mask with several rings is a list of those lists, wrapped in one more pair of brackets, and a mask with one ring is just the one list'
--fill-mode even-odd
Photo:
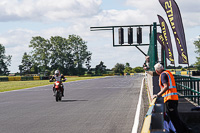
{"label": "entire pit wall beside white track line, including its pale far end", "polygon": [[[153,71],[147,71],[147,90],[150,101],[149,111],[143,122],[142,133],[163,133],[164,131],[164,102],[163,98],[152,99],[153,95],[160,91],[158,84],[159,75]],[[146,128],[145,128],[146,127]]]}

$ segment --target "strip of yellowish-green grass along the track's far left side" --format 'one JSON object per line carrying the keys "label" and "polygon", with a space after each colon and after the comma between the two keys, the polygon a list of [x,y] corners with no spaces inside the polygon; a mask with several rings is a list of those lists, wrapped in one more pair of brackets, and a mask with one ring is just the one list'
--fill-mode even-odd
{"label": "strip of yellowish-green grass along the track's far left side", "polygon": [[[96,78],[102,78],[102,77],[104,77],[104,76],[98,76],[98,77],[67,77],[66,82],[78,81],[78,80],[87,80],[87,79],[96,79]],[[44,86],[44,85],[49,85],[49,84],[53,84],[53,82],[49,82],[49,80],[0,82],[0,92],[26,89],[26,88]]]}

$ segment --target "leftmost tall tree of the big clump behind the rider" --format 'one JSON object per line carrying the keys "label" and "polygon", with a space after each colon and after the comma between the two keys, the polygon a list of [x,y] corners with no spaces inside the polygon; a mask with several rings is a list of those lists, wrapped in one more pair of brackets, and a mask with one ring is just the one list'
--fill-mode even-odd
{"label": "leftmost tall tree of the big clump behind the rider", "polygon": [[34,63],[38,65],[41,71],[45,71],[49,68],[50,62],[50,48],[51,44],[49,40],[46,40],[40,36],[32,37],[29,47],[33,48],[31,51]]}

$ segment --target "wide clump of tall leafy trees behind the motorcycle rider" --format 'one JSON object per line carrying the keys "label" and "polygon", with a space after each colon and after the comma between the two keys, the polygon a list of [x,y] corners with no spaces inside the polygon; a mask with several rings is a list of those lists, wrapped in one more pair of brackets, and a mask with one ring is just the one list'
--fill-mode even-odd
{"label": "wide clump of tall leafy trees behind the motorcycle rider", "polygon": [[81,75],[86,71],[84,63],[89,68],[92,53],[87,51],[86,42],[80,36],[69,35],[68,39],[54,36],[49,40],[37,36],[32,38],[29,47],[33,48],[31,71],[44,73],[59,69],[63,74]]}

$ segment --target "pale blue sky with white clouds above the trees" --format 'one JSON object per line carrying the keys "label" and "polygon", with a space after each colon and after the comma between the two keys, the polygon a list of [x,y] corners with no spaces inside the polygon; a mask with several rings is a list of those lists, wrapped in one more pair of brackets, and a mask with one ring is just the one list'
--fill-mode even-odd
{"label": "pale blue sky with white clouds above the trees", "polygon": [[[200,0],[176,0],[186,35],[189,64],[196,56],[193,42],[200,35]],[[91,66],[103,61],[111,69],[116,63],[128,62],[131,67],[142,66],[145,56],[135,47],[113,47],[111,31],[90,31],[94,26],[148,25],[158,22],[157,14],[168,24],[164,9],[158,0],[1,0],[0,44],[6,55],[12,55],[9,70],[19,72],[24,52],[30,53],[34,36],[79,35],[92,53]],[[158,28],[158,31],[161,31]],[[148,30],[143,29],[143,42],[149,42]],[[125,33],[126,34],[126,33]],[[118,38],[117,36],[115,38]],[[176,66],[179,64],[176,44],[171,34]],[[117,43],[117,41],[116,41]],[[158,44],[160,45],[160,44]],[[140,47],[145,53],[148,46]]]}

